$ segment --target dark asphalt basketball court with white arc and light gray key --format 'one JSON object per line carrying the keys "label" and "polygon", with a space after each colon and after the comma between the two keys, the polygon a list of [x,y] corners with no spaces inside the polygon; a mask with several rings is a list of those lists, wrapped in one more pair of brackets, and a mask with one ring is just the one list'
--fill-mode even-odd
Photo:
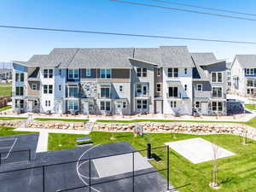
{"label": "dark asphalt basketball court with white arc and light gray key", "polygon": [[[14,150],[21,141],[24,148],[30,140],[27,135],[24,137],[17,137],[16,142],[15,137],[7,141],[0,137],[1,148],[9,150],[14,145]],[[34,145],[36,148],[37,143]],[[135,192],[164,192],[167,189],[166,178],[125,142],[37,153],[26,163],[0,166],[0,181],[0,191],[5,192],[130,192],[133,188]]]}

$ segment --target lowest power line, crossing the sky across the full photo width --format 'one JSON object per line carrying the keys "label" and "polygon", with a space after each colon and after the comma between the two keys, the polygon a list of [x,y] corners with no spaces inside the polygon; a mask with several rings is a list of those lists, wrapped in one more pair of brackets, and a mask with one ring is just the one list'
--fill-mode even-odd
{"label": "lowest power line, crossing the sky across the full photo width", "polygon": [[60,28],[57,29],[57,28],[42,28],[42,27],[28,27],[28,26],[2,26],[2,25],[0,26],[0,28],[36,30],[36,31],[48,31],[48,32],[90,33],[90,34],[101,34],[101,35],[138,37],[138,38],[163,38],[163,39],[206,41],[206,42],[218,42],[218,43],[230,43],[230,44],[256,44],[256,42],[231,41],[231,40],[210,39],[210,38],[183,38],[183,37],[159,36],[159,35],[148,35],[148,34],[131,34],[131,33],[119,33],[119,32],[80,31],[80,30],[60,29]]}

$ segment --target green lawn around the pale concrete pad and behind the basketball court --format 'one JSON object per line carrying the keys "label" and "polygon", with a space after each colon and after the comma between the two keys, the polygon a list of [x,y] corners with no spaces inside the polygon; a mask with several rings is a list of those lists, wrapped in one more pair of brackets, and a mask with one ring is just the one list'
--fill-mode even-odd
{"label": "green lawn around the pale concrete pad and behind the basketball court", "polygon": [[[154,133],[151,135],[152,147],[163,146],[166,142],[189,139],[193,137],[202,137],[207,141],[216,143],[219,146],[236,153],[235,156],[218,160],[218,183],[221,189],[218,191],[238,192],[238,191],[256,191],[256,142],[249,140],[247,145],[241,145],[241,137],[231,135],[206,135],[193,136],[187,134]],[[74,148],[75,138],[82,135],[69,134],[49,134],[49,150]],[[115,140],[110,140],[110,137]],[[125,141],[134,148],[146,148],[147,137],[134,137],[133,133],[109,133],[109,132],[91,132],[90,137],[94,144],[112,143]],[[160,156],[160,161],[150,161],[157,169],[163,169],[166,165],[166,153],[164,150],[153,150],[153,153]],[[178,186],[187,185],[178,189],[181,192],[210,192],[215,191],[208,187],[211,181],[212,162],[201,164],[192,164],[180,154],[170,150],[170,175],[171,183]],[[166,172],[163,172],[166,176]]]}

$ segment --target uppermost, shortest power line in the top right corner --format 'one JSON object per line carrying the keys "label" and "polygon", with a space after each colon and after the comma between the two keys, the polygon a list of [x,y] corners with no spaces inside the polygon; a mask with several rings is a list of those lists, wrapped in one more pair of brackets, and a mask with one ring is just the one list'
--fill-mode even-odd
{"label": "uppermost, shortest power line in the top right corner", "polygon": [[150,1],[159,2],[159,3],[177,4],[177,5],[182,5],[184,7],[190,7],[190,8],[208,9],[208,10],[213,10],[213,11],[218,11],[218,12],[226,12],[226,13],[230,13],[230,14],[256,16],[255,14],[248,14],[248,13],[233,11],[233,10],[228,10],[228,9],[215,9],[215,8],[209,8],[209,7],[201,7],[201,6],[194,5],[194,4],[177,3],[177,2],[164,1],[164,0],[150,0]]}

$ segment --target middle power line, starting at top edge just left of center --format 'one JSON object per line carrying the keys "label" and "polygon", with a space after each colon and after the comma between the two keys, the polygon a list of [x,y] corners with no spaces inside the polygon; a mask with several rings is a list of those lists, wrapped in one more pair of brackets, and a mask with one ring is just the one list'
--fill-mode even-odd
{"label": "middle power line, starting at top edge just left of center", "polygon": [[171,9],[171,10],[175,10],[175,11],[189,12],[189,13],[201,14],[201,15],[212,15],[212,16],[230,18],[230,19],[235,19],[235,20],[253,20],[253,21],[256,20],[256,19],[247,18],[247,17],[238,17],[238,16],[232,16],[232,15],[219,15],[219,14],[212,14],[212,13],[201,12],[201,11],[196,11],[196,10],[191,10],[191,9],[177,9],[177,8],[159,6],[159,5],[148,4],[148,3],[137,3],[137,2],[122,1],[122,0],[109,0],[109,1],[116,2],[116,3],[134,4],[134,5],[138,5],[138,6],[144,6],[144,7]]}

